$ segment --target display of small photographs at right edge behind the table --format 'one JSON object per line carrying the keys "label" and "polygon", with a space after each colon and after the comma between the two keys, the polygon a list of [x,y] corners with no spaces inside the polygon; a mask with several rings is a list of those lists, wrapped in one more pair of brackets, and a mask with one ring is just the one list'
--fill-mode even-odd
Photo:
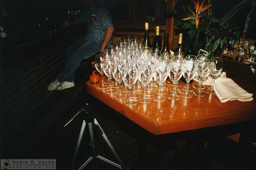
{"label": "display of small photographs at right edge behind the table", "polygon": [[256,74],[256,40],[239,37],[236,41],[230,41],[224,45],[221,57],[248,64]]}

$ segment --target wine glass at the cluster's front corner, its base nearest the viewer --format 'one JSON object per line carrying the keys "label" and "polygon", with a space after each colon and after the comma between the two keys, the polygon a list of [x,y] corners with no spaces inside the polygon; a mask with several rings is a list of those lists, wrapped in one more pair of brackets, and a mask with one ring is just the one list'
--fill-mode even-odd
{"label": "wine glass at the cluster's front corner, its base nearest the viewer", "polygon": [[131,88],[137,81],[137,77],[138,77],[136,67],[134,67],[134,65],[124,65],[121,68],[121,70],[122,70],[121,71],[122,80],[125,83],[125,85],[129,88],[129,94],[130,94],[129,99],[126,99],[123,102],[125,105],[130,105],[130,106],[136,105],[137,99],[134,99],[131,97]]}

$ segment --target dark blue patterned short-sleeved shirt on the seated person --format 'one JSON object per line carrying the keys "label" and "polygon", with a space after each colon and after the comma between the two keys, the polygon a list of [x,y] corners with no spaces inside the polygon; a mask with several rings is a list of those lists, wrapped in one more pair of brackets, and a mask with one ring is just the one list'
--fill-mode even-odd
{"label": "dark blue patterned short-sleeved shirt on the seated person", "polygon": [[[85,8],[81,14],[80,20],[82,23],[87,24],[86,40],[99,44],[101,44],[104,39],[106,29],[113,27],[111,14],[99,2],[94,3],[90,8]],[[111,41],[108,45],[111,45]]]}

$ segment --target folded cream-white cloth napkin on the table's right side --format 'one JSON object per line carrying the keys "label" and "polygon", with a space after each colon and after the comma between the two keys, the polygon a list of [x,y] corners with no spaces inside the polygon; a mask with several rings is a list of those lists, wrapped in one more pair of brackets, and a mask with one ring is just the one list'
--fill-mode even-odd
{"label": "folded cream-white cloth napkin on the table's right side", "polygon": [[[211,79],[208,78],[211,82]],[[241,102],[248,102],[253,100],[253,94],[248,93],[243,88],[241,88],[232,79],[227,78],[225,72],[221,74],[220,77],[215,79],[213,89],[216,96],[222,103],[229,100],[238,100]]]}

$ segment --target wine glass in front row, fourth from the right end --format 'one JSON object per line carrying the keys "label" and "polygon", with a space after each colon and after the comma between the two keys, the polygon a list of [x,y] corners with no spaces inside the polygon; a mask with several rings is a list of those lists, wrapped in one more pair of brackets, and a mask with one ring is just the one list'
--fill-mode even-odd
{"label": "wine glass in front row, fourth from the right end", "polygon": [[172,58],[172,67],[169,71],[169,78],[173,82],[173,91],[172,94],[167,95],[168,99],[177,100],[180,98],[179,95],[176,93],[176,86],[177,82],[179,81],[180,77],[182,76],[182,70],[184,67],[184,59],[181,56],[173,56]]}

